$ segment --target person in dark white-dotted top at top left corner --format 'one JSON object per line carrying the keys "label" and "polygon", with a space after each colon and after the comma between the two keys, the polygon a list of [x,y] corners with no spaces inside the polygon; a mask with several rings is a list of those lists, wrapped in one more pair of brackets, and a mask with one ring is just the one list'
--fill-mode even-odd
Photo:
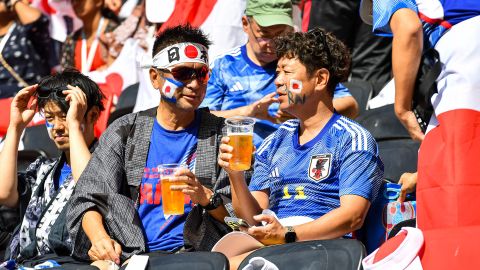
{"label": "person in dark white-dotted top at top left corner", "polygon": [[0,1],[0,98],[50,74],[48,18],[28,1]]}

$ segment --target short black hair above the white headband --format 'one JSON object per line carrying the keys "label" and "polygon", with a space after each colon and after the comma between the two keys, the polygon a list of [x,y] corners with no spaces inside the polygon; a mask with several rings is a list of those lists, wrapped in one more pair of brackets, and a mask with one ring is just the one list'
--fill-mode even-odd
{"label": "short black hair above the white headband", "polygon": [[178,25],[167,28],[157,35],[153,44],[152,57],[155,57],[157,53],[166,47],[182,42],[202,44],[207,49],[212,44],[202,30],[192,27],[190,24]]}

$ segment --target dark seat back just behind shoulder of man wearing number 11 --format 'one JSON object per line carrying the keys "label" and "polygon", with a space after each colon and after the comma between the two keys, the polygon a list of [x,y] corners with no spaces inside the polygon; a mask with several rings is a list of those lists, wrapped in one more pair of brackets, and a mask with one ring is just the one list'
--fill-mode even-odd
{"label": "dark seat back just behind shoulder of man wearing number 11", "polygon": [[365,111],[355,119],[377,140],[410,139],[408,131],[395,115],[393,104]]}

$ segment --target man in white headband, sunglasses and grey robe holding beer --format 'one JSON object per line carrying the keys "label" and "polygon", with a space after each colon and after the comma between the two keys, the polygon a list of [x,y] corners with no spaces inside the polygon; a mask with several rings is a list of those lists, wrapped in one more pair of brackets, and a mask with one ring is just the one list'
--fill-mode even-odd
{"label": "man in white headband, sunglasses and grey robe holding beer", "polygon": [[[72,199],[73,256],[120,264],[136,253],[210,250],[221,237],[230,197],[227,174],[215,162],[224,119],[198,109],[209,44],[190,26],[156,38],[150,79],[159,106],[118,119],[100,139]],[[157,166],[171,163],[188,167],[171,179],[172,190],[188,195],[182,215],[162,209]]]}

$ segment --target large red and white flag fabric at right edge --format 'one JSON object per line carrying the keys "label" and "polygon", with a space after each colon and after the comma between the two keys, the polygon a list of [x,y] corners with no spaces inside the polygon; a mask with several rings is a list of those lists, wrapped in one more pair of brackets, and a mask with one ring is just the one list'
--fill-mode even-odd
{"label": "large red and white flag fabric at right edge", "polygon": [[424,269],[480,269],[480,16],[437,42],[442,72],[420,146],[417,223]]}

